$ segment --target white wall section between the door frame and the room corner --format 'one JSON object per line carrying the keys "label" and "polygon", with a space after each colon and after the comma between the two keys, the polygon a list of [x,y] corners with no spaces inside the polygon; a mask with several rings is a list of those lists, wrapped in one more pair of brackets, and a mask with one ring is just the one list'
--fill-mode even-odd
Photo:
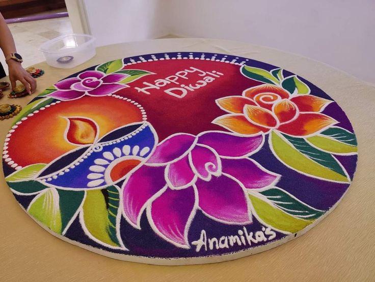
{"label": "white wall section between the door frame and the room corner", "polygon": [[162,11],[164,2],[82,0],[88,32],[97,37],[98,46],[165,35],[168,22]]}

